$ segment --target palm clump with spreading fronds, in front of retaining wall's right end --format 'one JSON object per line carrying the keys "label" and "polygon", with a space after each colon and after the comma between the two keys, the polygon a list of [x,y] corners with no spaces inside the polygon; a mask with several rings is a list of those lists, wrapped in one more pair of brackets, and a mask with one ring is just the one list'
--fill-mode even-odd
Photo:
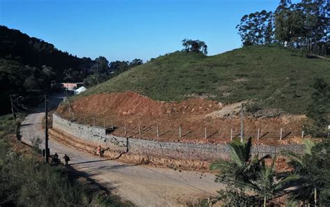
{"label": "palm clump with spreading fronds, in front of retaining wall's right end", "polygon": [[233,141],[229,144],[230,160],[217,160],[210,165],[211,170],[219,170],[216,181],[227,185],[234,185],[241,190],[251,190],[262,196],[264,206],[267,197],[281,192],[285,184],[297,180],[296,174],[278,176],[275,171],[276,158],[267,167],[265,160],[271,158],[265,155],[251,154],[251,138],[247,142]]}

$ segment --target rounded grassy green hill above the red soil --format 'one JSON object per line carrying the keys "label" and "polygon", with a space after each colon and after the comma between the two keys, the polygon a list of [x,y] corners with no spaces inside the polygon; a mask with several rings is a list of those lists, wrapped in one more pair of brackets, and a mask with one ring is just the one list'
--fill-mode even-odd
{"label": "rounded grassy green hill above the red soil", "polygon": [[220,102],[255,100],[292,114],[306,111],[316,77],[330,82],[330,61],[299,50],[249,46],[215,56],[174,52],[137,66],[82,95],[136,91],[155,100],[206,97]]}

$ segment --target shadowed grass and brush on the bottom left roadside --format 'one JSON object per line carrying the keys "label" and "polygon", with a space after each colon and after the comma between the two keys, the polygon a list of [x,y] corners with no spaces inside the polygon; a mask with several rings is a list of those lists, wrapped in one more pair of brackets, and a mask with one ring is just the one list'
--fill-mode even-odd
{"label": "shadowed grass and brush on the bottom left roadside", "polygon": [[91,189],[63,166],[50,166],[17,141],[12,116],[0,116],[0,206],[132,206]]}

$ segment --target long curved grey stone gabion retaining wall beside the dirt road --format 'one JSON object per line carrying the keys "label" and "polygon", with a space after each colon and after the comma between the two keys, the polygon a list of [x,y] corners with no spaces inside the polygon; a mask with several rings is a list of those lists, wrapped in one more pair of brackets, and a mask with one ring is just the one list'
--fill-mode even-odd
{"label": "long curved grey stone gabion retaining wall beside the dirt road", "polygon": [[[53,128],[61,130],[68,135],[82,139],[88,144],[109,147],[110,151],[134,153],[136,155],[149,155],[159,158],[173,158],[177,160],[206,160],[228,158],[230,151],[227,144],[194,144],[183,142],[164,142],[129,137],[107,135],[105,128],[91,125],[72,123],[60,116],[53,114]],[[253,146],[252,152],[260,156],[276,155],[281,151],[301,153],[303,145]]]}

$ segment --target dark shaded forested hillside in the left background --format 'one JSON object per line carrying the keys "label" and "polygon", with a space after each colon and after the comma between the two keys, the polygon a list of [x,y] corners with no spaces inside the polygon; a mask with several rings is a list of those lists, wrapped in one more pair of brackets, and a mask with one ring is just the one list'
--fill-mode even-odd
{"label": "dark shaded forested hillside in the left background", "polygon": [[9,112],[10,94],[50,93],[61,82],[93,86],[142,63],[141,59],[109,63],[104,56],[78,58],[44,40],[0,26],[0,114]]}

